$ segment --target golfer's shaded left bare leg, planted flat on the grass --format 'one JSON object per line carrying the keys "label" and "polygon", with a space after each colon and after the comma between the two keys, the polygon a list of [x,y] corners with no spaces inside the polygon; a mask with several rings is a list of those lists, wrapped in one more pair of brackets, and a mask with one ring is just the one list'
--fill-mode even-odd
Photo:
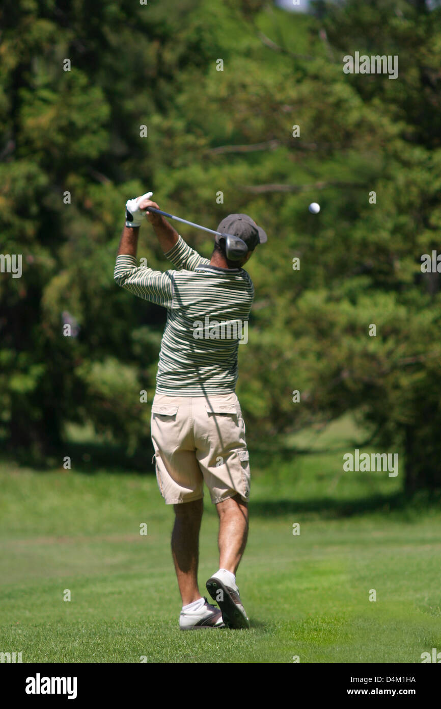
{"label": "golfer's shaded left bare leg, planted flat on the grass", "polygon": [[171,534],[171,553],[181,591],[182,604],[201,598],[197,586],[199,532],[204,503],[201,500],[174,505],[175,524]]}

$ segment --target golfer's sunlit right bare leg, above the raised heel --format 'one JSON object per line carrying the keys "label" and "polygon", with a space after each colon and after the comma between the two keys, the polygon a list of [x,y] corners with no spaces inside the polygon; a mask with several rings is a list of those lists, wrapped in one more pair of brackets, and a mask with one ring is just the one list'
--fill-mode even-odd
{"label": "golfer's sunlit right bare leg, above the raised heel", "polygon": [[236,574],[248,538],[248,503],[240,495],[217,504],[219,515],[219,569]]}

